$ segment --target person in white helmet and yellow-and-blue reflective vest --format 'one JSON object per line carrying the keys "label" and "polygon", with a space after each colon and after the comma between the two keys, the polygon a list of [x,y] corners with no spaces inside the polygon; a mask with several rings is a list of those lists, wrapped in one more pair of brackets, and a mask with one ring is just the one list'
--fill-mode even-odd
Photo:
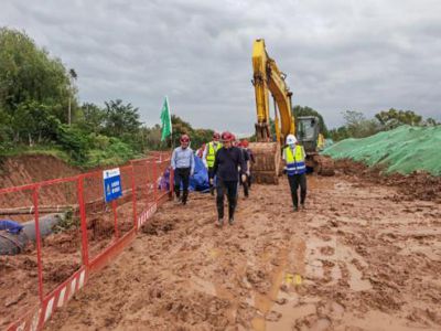
{"label": "person in white helmet and yellow-and-blue reflective vest", "polygon": [[300,206],[304,210],[306,197],[306,163],[303,146],[300,146],[294,135],[288,135],[287,147],[283,149],[283,160],[286,162],[284,172],[291,189],[292,205],[294,212],[299,210],[298,189],[300,186]]}

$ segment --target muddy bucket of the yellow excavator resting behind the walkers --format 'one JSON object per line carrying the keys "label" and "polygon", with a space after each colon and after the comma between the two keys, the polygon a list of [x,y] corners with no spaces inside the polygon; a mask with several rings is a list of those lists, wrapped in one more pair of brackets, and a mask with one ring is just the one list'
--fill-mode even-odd
{"label": "muddy bucket of the yellow excavator resting behind the walkers", "polygon": [[254,181],[260,184],[278,184],[281,172],[280,145],[251,142],[249,148],[256,160],[251,168]]}

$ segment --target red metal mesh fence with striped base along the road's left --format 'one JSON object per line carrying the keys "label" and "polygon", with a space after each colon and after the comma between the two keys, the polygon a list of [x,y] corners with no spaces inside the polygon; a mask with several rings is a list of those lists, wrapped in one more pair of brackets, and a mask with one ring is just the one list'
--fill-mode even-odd
{"label": "red metal mesh fence with striped base along the road's left", "polygon": [[41,329],[90,273],[120,253],[169,199],[169,164],[170,153],[155,152],[121,167],[122,196],[110,203],[101,171],[1,189],[0,210],[11,214],[0,217],[33,221],[35,239],[22,245],[8,235],[20,254],[0,255],[0,330]]}

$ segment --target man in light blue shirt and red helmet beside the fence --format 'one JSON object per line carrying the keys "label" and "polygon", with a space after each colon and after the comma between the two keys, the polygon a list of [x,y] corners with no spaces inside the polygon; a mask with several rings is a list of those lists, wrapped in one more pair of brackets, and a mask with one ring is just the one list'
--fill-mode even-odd
{"label": "man in light blue shirt and red helmet beside the fence", "polygon": [[[189,147],[190,137],[182,135],[180,139],[181,146],[173,150],[171,166],[174,171],[174,193],[178,201],[183,205],[186,204],[189,196],[190,177],[194,173],[194,153]],[[181,183],[182,183],[182,200],[181,200]]]}

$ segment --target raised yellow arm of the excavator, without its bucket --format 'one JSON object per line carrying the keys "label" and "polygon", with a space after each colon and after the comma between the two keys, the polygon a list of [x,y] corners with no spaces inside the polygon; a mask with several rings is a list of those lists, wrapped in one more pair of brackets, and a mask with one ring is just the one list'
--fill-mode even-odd
{"label": "raised yellow arm of the excavator, without its bucket", "polygon": [[[269,57],[265,41],[258,39],[252,46],[252,85],[256,96],[256,135],[257,140],[268,142],[271,140],[270,132],[270,111],[269,111],[269,92],[279,111],[276,110],[275,124],[277,140],[284,145],[284,139],[289,134],[295,134],[294,118],[291,111],[292,93],[284,81],[286,75],[278,68],[276,62]],[[280,124],[279,115],[280,114]]]}

